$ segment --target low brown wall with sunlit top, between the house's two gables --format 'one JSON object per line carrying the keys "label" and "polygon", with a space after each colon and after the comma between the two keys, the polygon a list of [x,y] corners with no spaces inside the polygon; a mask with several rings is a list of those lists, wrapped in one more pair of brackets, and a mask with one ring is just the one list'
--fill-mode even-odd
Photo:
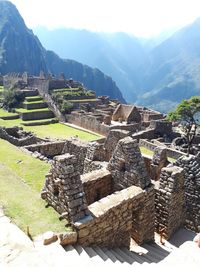
{"label": "low brown wall with sunlit top, between the house's two gables", "polygon": [[88,205],[112,193],[112,177],[106,169],[84,174],[81,180]]}

